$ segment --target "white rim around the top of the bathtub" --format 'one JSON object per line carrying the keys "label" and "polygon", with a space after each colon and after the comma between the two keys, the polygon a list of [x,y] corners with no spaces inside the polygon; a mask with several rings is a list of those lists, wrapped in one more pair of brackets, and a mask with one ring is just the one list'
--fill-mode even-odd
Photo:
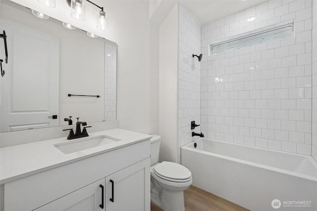
{"label": "white rim around the top of the bathtub", "polygon": [[298,172],[295,172],[295,171],[279,169],[279,168],[276,168],[276,167],[270,167],[270,166],[267,166],[267,165],[264,165],[264,164],[258,164],[258,163],[255,163],[255,162],[246,161],[246,160],[242,160],[242,159],[238,159],[238,158],[231,158],[229,156],[224,156],[224,155],[220,155],[220,154],[216,154],[216,153],[212,153],[212,152],[199,150],[199,149],[195,149],[195,148],[190,147],[191,145],[194,145],[195,142],[201,141],[203,139],[211,140],[211,141],[215,141],[215,142],[219,142],[219,143],[233,144],[233,145],[237,145],[237,146],[261,149],[261,150],[268,150],[268,151],[271,151],[271,152],[278,152],[278,153],[288,154],[288,155],[292,155],[292,156],[295,155],[295,156],[299,156],[299,157],[305,157],[305,158],[308,158],[313,163],[313,166],[317,170],[317,162],[314,160],[314,158],[312,156],[309,156],[309,155],[302,155],[302,154],[284,152],[284,151],[279,151],[279,150],[272,150],[272,149],[267,149],[267,148],[262,148],[262,147],[242,145],[242,144],[237,144],[237,143],[233,143],[233,142],[218,141],[218,140],[209,139],[209,138],[205,138],[205,137],[204,138],[198,138],[198,139],[196,139],[194,141],[191,141],[190,143],[182,146],[181,149],[186,149],[186,150],[190,150],[190,151],[193,151],[193,152],[198,151],[200,153],[203,153],[203,154],[206,154],[206,155],[212,155],[212,156],[217,157],[217,158],[221,158],[221,159],[225,159],[225,160],[229,160],[229,161],[234,161],[234,162],[239,162],[239,163],[242,163],[242,164],[245,164],[245,165],[250,165],[250,166],[253,166],[253,167],[256,167],[256,168],[262,168],[262,169],[267,169],[267,170],[270,170],[270,171],[276,171],[276,172],[289,174],[289,175],[292,175],[292,176],[296,176],[296,177],[300,177],[300,178],[303,178],[303,179],[308,179],[308,180],[317,182],[317,176],[315,177],[315,176],[311,176],[311,175],[307,175],[307,174],[303,174],[303,173],[298,173]]}

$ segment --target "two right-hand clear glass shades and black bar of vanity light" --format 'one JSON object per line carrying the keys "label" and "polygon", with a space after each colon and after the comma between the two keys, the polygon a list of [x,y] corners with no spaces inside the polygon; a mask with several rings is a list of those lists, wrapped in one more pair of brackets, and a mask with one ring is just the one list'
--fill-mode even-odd
{"label": "two right-hand clear glass shades and black bar of vanity light", "polygon": [[85,20],[85,1],[97,6],[101,10],[97,13],[97,29],[105,30],[108,28],[108,15],[104,7],[98,6],[90,0],[66,0],[71,8],[70,15],[76,20]]}

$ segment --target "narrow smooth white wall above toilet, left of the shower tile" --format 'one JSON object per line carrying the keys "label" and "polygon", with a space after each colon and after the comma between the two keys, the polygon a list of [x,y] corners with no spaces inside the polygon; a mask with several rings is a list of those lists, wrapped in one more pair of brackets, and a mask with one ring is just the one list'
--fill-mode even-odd
{"label": "narrow smooth white wall above toilet, left of the shower tile", "polygon": [[178,4],[159,27],[160,161],[177,162]]}

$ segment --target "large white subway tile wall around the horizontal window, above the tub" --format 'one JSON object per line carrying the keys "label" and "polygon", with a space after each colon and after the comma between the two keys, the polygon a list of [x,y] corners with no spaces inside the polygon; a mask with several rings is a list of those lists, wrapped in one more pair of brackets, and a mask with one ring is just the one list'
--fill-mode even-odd
{"label": "large white subway tile wall around the horizontal window, above the tub", "polygon": [[[289,22],[294,22],[293,38],[210,55],[210,44]],[[311,155],[311,23],[311,0],[270,0],[202,27],[201,127],[206,137]],[[313,26],[316,30],[316,20]],[[316,46],[313,40],[315,58]],[[313,89],[313,105],[316,98]],[[316,133],[316,151],[314,140]]]}

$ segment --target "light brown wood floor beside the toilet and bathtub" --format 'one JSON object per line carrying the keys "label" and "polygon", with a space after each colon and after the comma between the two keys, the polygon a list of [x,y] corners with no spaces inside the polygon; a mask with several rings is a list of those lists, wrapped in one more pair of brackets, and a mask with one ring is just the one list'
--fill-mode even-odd
{"label": "light brown wood floor beside the toilet and bathtub", "polygon": [[[249,211],[195,186],[184,191],[185,211]],[[151,203],[151,211],[163,211]]]}

